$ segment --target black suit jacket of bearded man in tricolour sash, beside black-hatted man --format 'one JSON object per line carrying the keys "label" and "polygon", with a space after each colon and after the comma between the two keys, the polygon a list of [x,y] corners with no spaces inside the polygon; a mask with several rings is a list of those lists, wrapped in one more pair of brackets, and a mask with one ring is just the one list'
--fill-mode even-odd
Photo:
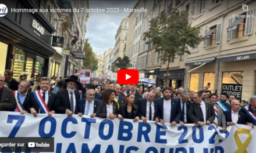
{"label": "black suit jacket of bearded man in tricolour sash, beside black-hatted man", "polygon": [[[35,90],[34,92],[37,92],[37,90]],[[30,112],[30,108],[34,108],[35,111],[37,111],[38,114],[43,113],[40,110],[40,106],[38,105],[37,101],[35,100],[34,92],[30,93],[30,100],[27,103],[27,105],[28,105],[27,110],[28,110],[28,112]],[[49,97],[48,97],[47,107],[49,108],[49,111],[55,111],[54,110],[54,103],[55,103],[55,100],[56,100],[56,94],[52,93],[52,92],[48,92],[48,93],[49,93],[48,94]],[[40,112],[39,112],[39,110],[40,110]]]}

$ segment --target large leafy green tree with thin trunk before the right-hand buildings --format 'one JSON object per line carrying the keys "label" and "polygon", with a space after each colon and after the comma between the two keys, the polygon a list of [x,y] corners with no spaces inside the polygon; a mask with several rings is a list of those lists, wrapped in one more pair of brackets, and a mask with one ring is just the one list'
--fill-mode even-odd
{"label": "large leafy green tree with thin trunk before the right-hand buildings", "polygon": [[[180,12],[177,9],[172,10],[169,14],[161,14],[151,19],[150,28],[143,34],[143,40],[147,44],[155,46],[155,52],[160,53],[162,61],[168,61],[167,74],[169,74],[170,59],[176,55],[190,54],[188,46],[195,48],[205,40],[200,35],[200,27],[191,27],[187,20],[187,12]],[[168,76],[166,76],[166,85],[169,85]]]}

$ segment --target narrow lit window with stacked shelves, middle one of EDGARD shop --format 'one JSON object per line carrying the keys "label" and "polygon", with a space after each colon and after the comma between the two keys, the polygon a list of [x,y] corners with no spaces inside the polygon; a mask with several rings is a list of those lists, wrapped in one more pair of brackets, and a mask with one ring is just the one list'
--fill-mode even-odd
{"label": "narrow lit window with stacked shelves, middle one of EDGARD shop", "polygon": [[20,73],[24,71],[25,53],[23,50],[16,48],[13,64],[13,78],[20,78]]}

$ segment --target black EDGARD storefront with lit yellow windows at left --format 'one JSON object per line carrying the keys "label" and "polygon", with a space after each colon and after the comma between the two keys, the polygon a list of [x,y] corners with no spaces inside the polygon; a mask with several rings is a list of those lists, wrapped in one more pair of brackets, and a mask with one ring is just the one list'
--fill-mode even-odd
{"label": "black EDGARD storefront with lit yellow windows at left", "polygon": [[[5,1],[8,8],[33,8],[31,1]],[[2,69],[29,75],[48,76],[49,57],[55,50],[51,48],[51,34],[55,31],[41,13],[13,13],[0,17],[0,60]],[[6,58],[6,59],[4,59]],[[2,71],[3,72],[3,71]],[[30,77],[30,76],[29,76]]]}

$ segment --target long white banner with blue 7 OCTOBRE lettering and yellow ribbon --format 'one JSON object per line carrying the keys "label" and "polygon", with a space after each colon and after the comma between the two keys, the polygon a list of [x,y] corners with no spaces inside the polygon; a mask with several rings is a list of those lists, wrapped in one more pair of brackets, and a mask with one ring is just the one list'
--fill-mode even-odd
{"label": "long white banner with blue 7 OCTOBRE lettering and yellow ribbon", "polygon": [[234,125],[228,132],[214,125],[161,126],[125,119],[0,112],[0,137],[54,137],[55,152],[93,153],[253,153],[256,128]]}

